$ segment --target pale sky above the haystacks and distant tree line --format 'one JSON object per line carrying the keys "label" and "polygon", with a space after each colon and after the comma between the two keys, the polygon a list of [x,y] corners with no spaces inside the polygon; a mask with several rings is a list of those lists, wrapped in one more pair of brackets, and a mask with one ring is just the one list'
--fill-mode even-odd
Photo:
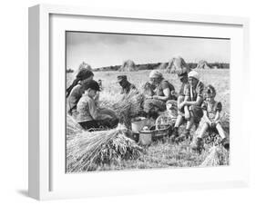
{"label": "pale sky above the haystacks and distant tree line", "polygon": [[181,56],[187,63],[230,63],[230,40],[67,32],[67,69],[85,62],[92,68],[134,63],[163,63]]}

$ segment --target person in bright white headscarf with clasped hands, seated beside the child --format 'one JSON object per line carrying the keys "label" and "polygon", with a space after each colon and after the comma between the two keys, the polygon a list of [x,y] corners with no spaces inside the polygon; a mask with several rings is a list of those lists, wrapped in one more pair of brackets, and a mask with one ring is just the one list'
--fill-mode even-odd
{"label": "person in bright white headscarf with clasped hands, seated beside the child", "polygon": [[178,133],[179,125],[183,120],[179,119],[174,128],[174,141],[181,142],[189,137],[189,132],[194,123],[199,124],[203,112],[201,103],[203,101],[204,84],[200,82],[200,74],[196,71],[191,71],[188,74],[189,83],[184,88],[184,101],[178,105],[179,111],[184,111],[184,118],[187,120],[186,130],[180,136]]}

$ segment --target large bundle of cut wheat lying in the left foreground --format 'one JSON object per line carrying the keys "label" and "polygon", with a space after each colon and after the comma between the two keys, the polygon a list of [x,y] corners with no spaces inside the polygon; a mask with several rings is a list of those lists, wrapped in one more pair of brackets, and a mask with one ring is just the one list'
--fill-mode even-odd
{"label": "large bundle of cut wheat lying in the left foreground", "polygon": [[136,160],[143,151],[119,125],[108,131],[82,132],[67,141],[67,172],[95,171],[100,165]]}

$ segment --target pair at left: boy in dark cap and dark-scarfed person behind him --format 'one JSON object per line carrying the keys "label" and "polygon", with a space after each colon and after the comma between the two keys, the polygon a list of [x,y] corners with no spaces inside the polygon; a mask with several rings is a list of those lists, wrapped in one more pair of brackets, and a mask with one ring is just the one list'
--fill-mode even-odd
{"label": "pair at left: boy in dark cap and dark-scarfed person behind him", "polygon": [[77,73],[76,79],[67,88],[68,113],[90,132],[101,127],[114,128],[118,125],[118,117],[110,109],[98,106],[101,86],[93,78],[94,73],[89,69]]}

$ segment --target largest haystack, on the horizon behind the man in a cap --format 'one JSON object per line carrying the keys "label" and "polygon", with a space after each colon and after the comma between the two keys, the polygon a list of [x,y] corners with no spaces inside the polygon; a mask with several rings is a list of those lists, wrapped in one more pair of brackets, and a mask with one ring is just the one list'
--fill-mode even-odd
{"label": "largest haystack, on the horizon behind the man in a cap", "polygon": [[180,56],[173,57],[166,67],[167,73],[183,73],[184,71],[189,72],[189,67],[184,59]]}

